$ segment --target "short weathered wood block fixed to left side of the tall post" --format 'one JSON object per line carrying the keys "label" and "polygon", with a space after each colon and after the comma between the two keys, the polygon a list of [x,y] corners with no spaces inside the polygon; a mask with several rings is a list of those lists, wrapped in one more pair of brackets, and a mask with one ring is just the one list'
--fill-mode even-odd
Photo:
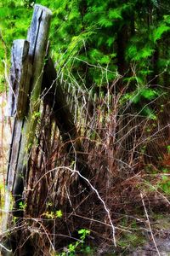
{"label": "short weathered wood block fixed to left side of the tall post", "polygon": [[31,63],[28,59],[28,51],[28,41],[14,40],[8,89],[8,116],[16,115],[19,119],[23,119],[26,115],[30,90]]}

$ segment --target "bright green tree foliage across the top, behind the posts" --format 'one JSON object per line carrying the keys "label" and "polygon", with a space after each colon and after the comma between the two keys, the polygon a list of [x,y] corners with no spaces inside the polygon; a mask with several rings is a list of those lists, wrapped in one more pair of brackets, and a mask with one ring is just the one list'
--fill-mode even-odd
{"label": "bright green tree foliage across the top, behind the posts", "polygon": [[[168,9],[161,10],[161,5],[153,1],[151,4],[153,22],[148,26],[145,21],[148,4],[145,1],[139,3],[139,0],[128,0],[126,3],[118,1],[112,3],[104,0],[37,0],[35,2],[53,11],[50,31],[51,50],[54,61],[58,63],[58,69],[64,73],[65,79],[71,79],[70,75],[73,75],[77,83],[82,83],[83,80],[87,88],[92,84],[94,88],[101,87],[101,81],[102,86],[105,87],[116,79],[118,61],[116,39],[122,27],[126,26],[127,43],[123,51],[128,67],[134,63],[136,66],[135,76],[130,76],[128,79],[132,83],[147,84],[147,76],[153,74],[150,60],[157,44],[169,32]],[[14,38],[26,38],[33,3],[30,0],[4,0],[0,3],[0,29],[7,48],[7,56],[4,47],[0,49],[1,71],[3,71],[2,60],[9,60]],[[159,9],[159,18],[156,17],[157,9]],[[133,22],[135,30],[131,34]],[[164,55],[165,44],[159,47],[161,48],[158,66],[161,72],[169,65],[169,53]],[[83,62],[75,61],[75,57]],[[3,84],[4,75],[2,74],[0,78]],[[125,82],[126,79],[127,77]]]}

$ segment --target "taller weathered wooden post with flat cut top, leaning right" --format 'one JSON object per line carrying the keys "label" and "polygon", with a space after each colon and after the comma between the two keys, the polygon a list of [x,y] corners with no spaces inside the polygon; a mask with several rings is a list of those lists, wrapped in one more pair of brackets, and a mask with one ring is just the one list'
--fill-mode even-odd
{"label": "taller weathered wooden post with flat cut top, leaning right", "polygon": [[[38,4],[35,5],[31,20],[31,27],[27,37],[27,40],[30,43],[28,53],[29,61],[32,65],[30,108],[23,127],[23,140],[20,144],[20,155],[18,160],[19,175],[18,179],[15,179],[14,181],[14,195],[20,195],[23,191],[23,182],[26,182],[26,177],[28,176],[27,171],[29,171],[29,167],[27,168],[27,164],[37,127],[37,117],[41,102],[40,94],[43,66],[48,44],[48,32],[51,16],[52,13],[49,9]],[[23,177],[25,179],[24,181]]]}

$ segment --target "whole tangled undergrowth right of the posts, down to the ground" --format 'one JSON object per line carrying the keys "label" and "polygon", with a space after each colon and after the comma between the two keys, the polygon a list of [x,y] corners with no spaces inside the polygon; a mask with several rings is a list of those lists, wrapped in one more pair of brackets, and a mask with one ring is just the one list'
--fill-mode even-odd
{"label": "whole tangled undergrowth right of the posts, down to the ground", "polygon": [[48,105],[42,106],[20,203],[23,217],[17,212],[12,217],[11,233],[22,232],[17,250],[126,255],[151,239],[159,253],[154,237],[161,227],[155,223],[167,216],[170,205],[169,125],[164,119],[169,102],[156,98],[154,117],[146,117],[133,101],[125,101],[125,91],[116,93],[116,83],[105,96],[87,99],[82,89],[67,86],[65,95],[77,137],[64,142]]}

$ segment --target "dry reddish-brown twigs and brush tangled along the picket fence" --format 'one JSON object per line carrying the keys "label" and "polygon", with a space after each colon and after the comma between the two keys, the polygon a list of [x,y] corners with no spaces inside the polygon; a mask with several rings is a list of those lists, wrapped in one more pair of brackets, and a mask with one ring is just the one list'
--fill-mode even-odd
{"label": "dry reddish-brown twigs and brush tangled along the picket fence", "polygon": [[[111,224],[119,240],[131,232],[132,219],[150,232],[144,209],[170,209],[168,195],[157,186],[165,175],[161,170],[167,157],[168,123],[161,117],[144,117],[133,105],[122,107],[122,94],[101,96],[97,101],[87,100],[83,92],[75,97],[73,94],[73,100],[69,100],[73,104],[69,104],[79,136],[71,140],[69,152],[66,144],[70,142],[63,142],[56,125],[51,125],[53,118],[46,113],[37,130],[38,147],[33,150],[31,178],[25,191],[25,218],[31,218],[30,236],[37,239],[37,253],[42,253],[42,248],[65,247],[77,239],[81,228],[91,230],[93,246],[111,246]],[[93,105],[91,113],[89,104]],[[157,114],[159,117],[159,109]],[[77,142],[81,150],[77,150]],[[80,162],[85,170],[78,169]],[[59,209],[62,219],[42,218],[46,212]],[[129,222],[122,227],[123,218]],[[33,234],[32,230],[38,231]]]}

